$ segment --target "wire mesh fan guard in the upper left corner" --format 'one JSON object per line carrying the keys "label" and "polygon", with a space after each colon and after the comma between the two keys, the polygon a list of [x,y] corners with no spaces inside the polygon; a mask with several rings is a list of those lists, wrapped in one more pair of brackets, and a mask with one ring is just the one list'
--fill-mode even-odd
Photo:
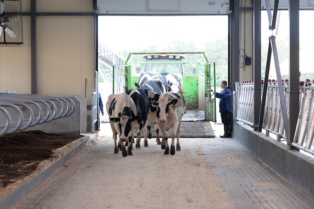
{"label": "wire mesh fan guard in the upper left corner", "polygon": [[22,44],[22,1],[0,0],[0,46],[21,46]]}

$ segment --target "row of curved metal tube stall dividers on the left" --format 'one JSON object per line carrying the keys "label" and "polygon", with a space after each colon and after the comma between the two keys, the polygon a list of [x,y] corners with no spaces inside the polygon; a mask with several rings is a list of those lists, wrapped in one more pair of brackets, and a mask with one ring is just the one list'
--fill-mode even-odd
{"label": "row of curved metal tube stall dividers on the left", "polygon": [[74,109],[68,97],[0,92],[0,136],[68,117]]}

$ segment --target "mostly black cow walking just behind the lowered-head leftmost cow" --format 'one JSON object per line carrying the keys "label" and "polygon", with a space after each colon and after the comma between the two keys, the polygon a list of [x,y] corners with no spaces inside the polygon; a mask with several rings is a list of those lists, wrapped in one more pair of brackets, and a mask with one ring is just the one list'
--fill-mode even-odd
{"label": "mostly black cow walking just behind the lowered-head leftmost cow", "polygon": [[129,95],[134,104],[136,106],[137,112],[137,139],[136,139],[136,148],[140,148],[140,132],[143,130],[144,133],[144,146],[148,146],[147,137],[146,137],[146,125],[147,125],[147,114],[149,109],[149,102],[148,102],[148,93],[146,89],[129,89],[125,91],[127,95]]}

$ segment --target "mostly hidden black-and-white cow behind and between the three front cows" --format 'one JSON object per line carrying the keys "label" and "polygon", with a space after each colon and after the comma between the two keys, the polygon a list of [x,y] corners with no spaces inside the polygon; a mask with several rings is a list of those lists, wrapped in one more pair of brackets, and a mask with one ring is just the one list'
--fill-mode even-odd
{"label": "mostly hidden black-and-white cow behind and between the three front cows", "polygon": [[[166,76],[154,73],[141,73],[138,83],[135,83],[135,86],[140,89],[146,89],[148,91],[148,100],[158,101],[159,95],[166,93],[169,89],[168,81]],[[162,144],[159,138],[159,127],[156,119],[156,108],[152,107],[149,103],[149,111],[147,115],[147,128],[148,138],[151,138],[151,123],[155,124],[156,131],[156,142],[157,144]]]}

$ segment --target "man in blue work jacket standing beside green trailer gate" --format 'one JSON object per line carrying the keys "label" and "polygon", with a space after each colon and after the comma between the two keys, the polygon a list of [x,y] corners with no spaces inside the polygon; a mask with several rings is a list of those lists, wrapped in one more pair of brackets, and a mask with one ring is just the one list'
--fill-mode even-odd
{"label": "man in blue work jacket standing beside green trailer gate", "polygon": [[[221,115],[221,122],[224,124],[224,135],[221,138],[231,137],[231,90],[227,87],[227,81],[220,83],[221,92],[216,92],[216,97],[219,98],[219,112]],[[213,91],[213,90],[211,90]]]}

